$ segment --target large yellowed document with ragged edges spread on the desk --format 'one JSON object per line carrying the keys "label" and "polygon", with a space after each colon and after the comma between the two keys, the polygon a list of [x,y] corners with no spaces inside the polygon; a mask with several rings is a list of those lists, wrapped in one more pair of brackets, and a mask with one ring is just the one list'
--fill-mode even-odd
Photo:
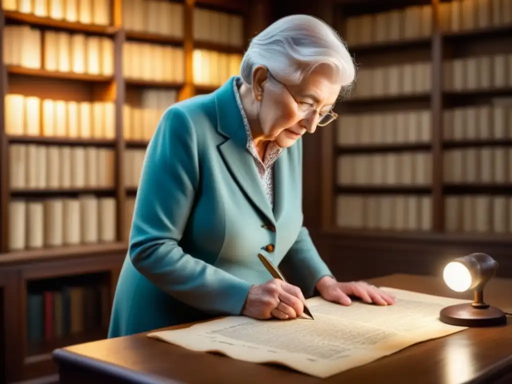
{"label": "large yellowed document with ragged edges spread on the desk", "polygon": [[346,307],[313,297],[307,303],[314,320],[258,321],[232,316],[148,336],[194,351],[273,362],[325,378],[415,343],[466,329],[441,323],[439,311],[467,300],[382,289],[395,295],[395,305],[354,302]]}

